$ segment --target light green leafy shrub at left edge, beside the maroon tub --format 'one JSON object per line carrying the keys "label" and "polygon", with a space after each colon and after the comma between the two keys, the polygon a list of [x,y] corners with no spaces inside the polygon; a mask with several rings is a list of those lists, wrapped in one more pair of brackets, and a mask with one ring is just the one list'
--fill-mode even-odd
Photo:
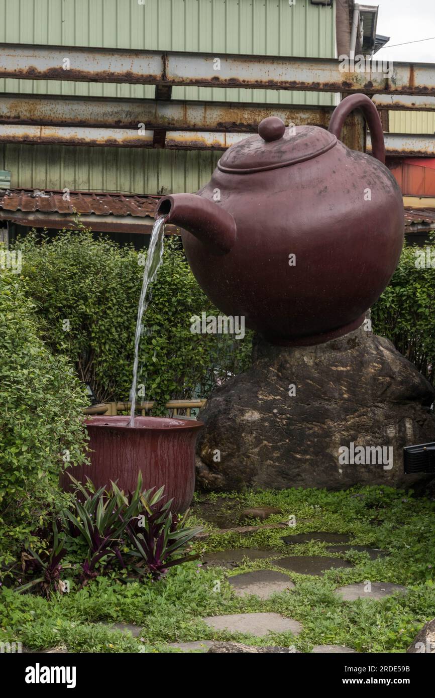
{"label": "light green leafy shrub at left edge, beside the maroon tub", "polygon": [[[86,396],[68,359],[39,339],[24,284],[0,272],[0,559],[8,565],[61,499],[64,461],[84,461]],[[51,518],[51,517],[50,517]]]}

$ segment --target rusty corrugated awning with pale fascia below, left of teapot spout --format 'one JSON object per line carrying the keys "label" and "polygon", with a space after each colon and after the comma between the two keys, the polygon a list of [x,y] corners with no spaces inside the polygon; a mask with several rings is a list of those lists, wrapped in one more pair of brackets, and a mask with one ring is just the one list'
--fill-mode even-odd
{"label": "rusty corrugated awning with pale fascia below, left of teapot spout", "polygon": [[79,191],[0,191],[0,219],[35,228],[80,223],[97,232],[151,232],[160,196]]}

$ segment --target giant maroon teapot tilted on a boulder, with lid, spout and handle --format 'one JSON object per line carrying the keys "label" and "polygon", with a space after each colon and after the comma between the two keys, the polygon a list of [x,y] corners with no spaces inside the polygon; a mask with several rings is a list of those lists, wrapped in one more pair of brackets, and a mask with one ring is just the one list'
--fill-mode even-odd
{"label": "giant maroon teapot tilted on a boulder, with lid, spout and handle", "polygon": [[[374,156],[338,138],[357,107]],[[183,229],[193,274],[223,313],[272,343],[320,343],[358,327],[397,266],[404,207],[384,163],[376,107],[352,95],[328,131],[264,119],[198,194],[163,197],[156,216]]]}

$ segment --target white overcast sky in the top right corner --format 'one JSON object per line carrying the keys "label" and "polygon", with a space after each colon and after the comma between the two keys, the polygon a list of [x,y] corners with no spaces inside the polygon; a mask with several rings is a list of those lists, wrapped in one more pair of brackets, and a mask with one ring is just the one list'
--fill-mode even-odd
{"label": "white overcast sky in the top right corner", "polygon": [[391,37],[375,54],[376,59],[435,63],[435,38],[388,48],[389,44],[435,36],[435,0],[362,0],[360,4],[379,6],[376,34]]}

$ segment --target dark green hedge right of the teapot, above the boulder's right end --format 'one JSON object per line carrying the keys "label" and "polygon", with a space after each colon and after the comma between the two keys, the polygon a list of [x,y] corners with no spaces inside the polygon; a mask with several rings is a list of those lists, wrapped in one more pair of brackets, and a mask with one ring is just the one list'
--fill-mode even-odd
{"label": "dark green hedge right of the teapot, above the boulder's right end", "polygon": [[[371,309],[376,334],[388,337],[423,376],[435,378],[435,244],[405,247],[390,284]],[[417,262],[417,265],[416,265]]]}

